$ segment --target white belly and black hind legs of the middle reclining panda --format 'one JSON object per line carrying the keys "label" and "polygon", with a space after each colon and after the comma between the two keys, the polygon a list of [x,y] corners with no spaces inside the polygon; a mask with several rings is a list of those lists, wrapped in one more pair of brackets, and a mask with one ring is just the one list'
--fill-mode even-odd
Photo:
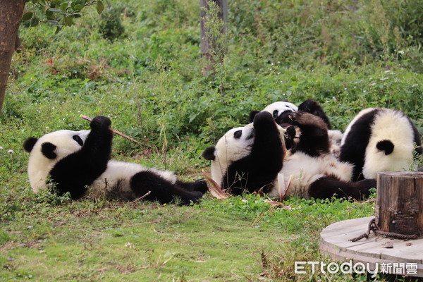
{"label": "white belly and black hind legs of the middle reclining panda", "polygon": [[326,123],[313,114],[298,111],[292,123],[300,128],[300,140],[283,161],[281,173],[290,180],[288,195],[304,198],[352,197],[361,200],[376,187],[376,180],[350,182],[353,165],[339,161],[331,152]]}

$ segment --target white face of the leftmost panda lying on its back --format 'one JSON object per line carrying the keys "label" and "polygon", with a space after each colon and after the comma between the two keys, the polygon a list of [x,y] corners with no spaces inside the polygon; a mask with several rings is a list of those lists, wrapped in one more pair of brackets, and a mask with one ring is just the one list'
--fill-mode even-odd
{"label": "white face of the leftmost panda lying on its back", "polygon": [[51,168],[58,161],[82,148],[88,133],[89,130],[59,130],[48,133],[38,140],[34,138],[33,144],[25,147],[31,153],[28,176],[34,192],[44,188]]}

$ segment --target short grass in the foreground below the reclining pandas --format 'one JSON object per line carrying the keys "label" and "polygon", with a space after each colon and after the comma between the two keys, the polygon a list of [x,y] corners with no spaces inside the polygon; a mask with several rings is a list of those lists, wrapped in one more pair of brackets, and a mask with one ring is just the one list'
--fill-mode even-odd
{"label": "short grass in the foreground below the reclining pandas", "polygon": [[[40,202],[2,228],[7,281],[256,281],[302,279],[294,260],[319,256],[326,224],[368,216],[371,204],[255,195],[194,207],[90,200]],[[337,279],[336,277],[333,277]]]}

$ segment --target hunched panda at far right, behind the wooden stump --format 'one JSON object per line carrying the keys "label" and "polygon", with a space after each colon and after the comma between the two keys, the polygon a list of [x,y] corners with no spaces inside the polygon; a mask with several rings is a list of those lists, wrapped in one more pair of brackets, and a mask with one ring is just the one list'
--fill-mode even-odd
{"label": "hunched panda at far right, behind the wooden stump", "polygon": [[352,180],[360,180],[410,169],[413,151],[422,154],[422,140],[410,118],[394,109],[369,108],[346,128],[339,157],[354,164]]}

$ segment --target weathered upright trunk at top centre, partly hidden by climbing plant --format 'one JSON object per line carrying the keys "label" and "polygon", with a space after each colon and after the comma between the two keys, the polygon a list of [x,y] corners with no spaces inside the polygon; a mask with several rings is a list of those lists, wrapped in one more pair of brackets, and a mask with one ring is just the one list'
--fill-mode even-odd
{"label": "weathered upright trunk at top centre, partly hidden by climbing plant", "polygon": [[225,23],[222,33],[226,32],[226,23],[228,22],[228,0],[200,0],[200,23],[201,23],[201,54],[207,63],[202,69],[203,75],[214,71],[214,58],[210,54],[210,49],[216,48],[214,46],[215,42],[210,42],[210,38],[207,36],[207,29],[204,27],[206,11],[209,8],[209,1],[214,1],[214,3],[219,6],[220,13],[219,18]]}

